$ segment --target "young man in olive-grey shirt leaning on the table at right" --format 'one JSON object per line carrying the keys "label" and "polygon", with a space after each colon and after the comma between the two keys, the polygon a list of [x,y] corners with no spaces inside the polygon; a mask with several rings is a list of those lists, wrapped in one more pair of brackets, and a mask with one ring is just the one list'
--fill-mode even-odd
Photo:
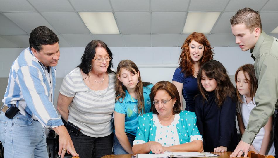
{"label": "young man in olive-grey shirt leaning on the table at right", "polygon": [[[230,157],[240,157],[244,153],[246,157],[256,134],[278,108],[278,40],[262,30],[259,12],[250,8],[237,11],[230,19],[230,23],[236,43],[241,50],[250,49],[252,53],[251,57],[255,60],[256,78],[259,81],[255,94],[256,107],[250,113],[241,141],[230,155]],[[277,116],[274,125],[275,152],[278,152]]]}

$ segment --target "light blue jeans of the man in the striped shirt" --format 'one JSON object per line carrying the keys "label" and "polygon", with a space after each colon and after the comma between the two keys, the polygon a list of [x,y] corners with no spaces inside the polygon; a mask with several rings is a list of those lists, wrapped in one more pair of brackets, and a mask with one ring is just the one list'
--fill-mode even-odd
{"label": "light blue jeans of the man in the striped shirt", "polygon": [[19,112],[9,119],[0,114],[0,141],[4,157],[48,158],[44,127],[38,120],[27,118]]}

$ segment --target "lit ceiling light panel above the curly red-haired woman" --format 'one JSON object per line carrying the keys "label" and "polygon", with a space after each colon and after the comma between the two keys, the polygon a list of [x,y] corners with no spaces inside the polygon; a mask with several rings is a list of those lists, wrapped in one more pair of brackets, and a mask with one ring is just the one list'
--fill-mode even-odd
{"label": "lit ceiling light panel above the curly red-haired woman", "polygon": [[220,12],[188,12],[182,33],[210,33],[219,15]]}

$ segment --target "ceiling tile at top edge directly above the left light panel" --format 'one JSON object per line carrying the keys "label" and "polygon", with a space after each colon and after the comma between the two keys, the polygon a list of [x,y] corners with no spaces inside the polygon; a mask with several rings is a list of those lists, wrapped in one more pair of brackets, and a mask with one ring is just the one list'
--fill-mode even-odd
{"label": "ceiling tile at top edge directly above the left light panel", "polygon": [[108,0],[69,0],[76,11],[112,11]]}

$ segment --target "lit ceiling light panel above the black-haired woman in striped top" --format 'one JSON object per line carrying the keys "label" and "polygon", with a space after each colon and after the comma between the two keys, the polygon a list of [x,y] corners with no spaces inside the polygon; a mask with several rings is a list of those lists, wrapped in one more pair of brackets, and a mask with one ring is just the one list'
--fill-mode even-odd
{"label": "lit ceiling light panel above the black-haired woman in striped top", "polygon": [[78,12],[92,34],[120,34],[112,12]]}

